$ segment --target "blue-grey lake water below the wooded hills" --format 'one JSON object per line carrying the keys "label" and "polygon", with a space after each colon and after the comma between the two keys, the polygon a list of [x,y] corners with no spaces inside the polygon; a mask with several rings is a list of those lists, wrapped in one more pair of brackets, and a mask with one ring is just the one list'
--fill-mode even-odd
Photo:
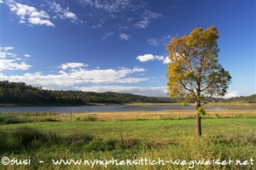
{"label": "blue-grey lake water below the wooded hills", "polygon": [[[86,112],[106,112],[106,111],[193,111],[195,107],[182,105],[84,105],[84,106],[1,106],[0,111],[6,112],[58,112],[58,113],[86,113]],[[256,107],[246,106],[222,106],[207,107],[206,110],[256,110]]]}

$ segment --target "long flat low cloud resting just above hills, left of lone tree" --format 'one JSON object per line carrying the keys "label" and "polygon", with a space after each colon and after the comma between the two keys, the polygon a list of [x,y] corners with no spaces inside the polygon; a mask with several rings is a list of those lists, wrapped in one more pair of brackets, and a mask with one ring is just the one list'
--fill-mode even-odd
{"label": "long flat low cloud resting just above hills, left of lone tree", "polygon": [[167,97],[166,87],[130,87],[130,86],[93,86],[93,87],[76,87],[78,90],[90,92],[118,92],[125,94],[137,94],[143,96],[160,96]]}

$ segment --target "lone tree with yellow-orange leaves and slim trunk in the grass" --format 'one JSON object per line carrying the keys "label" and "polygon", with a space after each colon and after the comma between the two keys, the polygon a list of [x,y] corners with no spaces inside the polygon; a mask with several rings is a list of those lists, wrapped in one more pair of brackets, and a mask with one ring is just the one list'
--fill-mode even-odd
{"label": "lone tree with yellow-orange leaves and slim trunk in the grass", "polygon": [[229,71],[218,64],[217,39],[215,26],[206,30],[195,28],[189,36],[173,37],[166,47],[171,59],[166,71],[168,94],[184,99],[183,103],[195,102],[198,136],[201,136],[201,116],[206,115],[202,106],[227,94],[231,82]]}

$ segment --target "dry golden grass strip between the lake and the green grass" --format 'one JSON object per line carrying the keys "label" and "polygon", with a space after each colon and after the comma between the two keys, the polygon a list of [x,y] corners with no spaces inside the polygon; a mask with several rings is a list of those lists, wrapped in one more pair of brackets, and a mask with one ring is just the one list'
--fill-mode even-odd
{"label": "dry golden grass strip between the lake and the green grass", "polygon": [[[256,116],[255,110],[207,111],[206,117],[250,117]],[[178,119],[195,116],[195,111],[120,111],[73,114],[75,117],[96,116],[99,121],[125,121],[140,119]]]}

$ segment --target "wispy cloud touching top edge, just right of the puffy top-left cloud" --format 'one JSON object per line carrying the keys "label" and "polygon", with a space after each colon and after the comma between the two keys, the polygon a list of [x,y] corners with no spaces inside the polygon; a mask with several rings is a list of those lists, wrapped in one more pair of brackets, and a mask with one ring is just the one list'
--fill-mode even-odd
{"label": "wispy cloud touching top edge, just right of the puffy top-left cloud", "polygon": [[54,18],[60,18],[62,20],[69,19],[73,23],[77,23],[78,17],[73,12],[69,11],[69,8],[61,8],[59,3],[49,2],[49,8],[55,12]]}

